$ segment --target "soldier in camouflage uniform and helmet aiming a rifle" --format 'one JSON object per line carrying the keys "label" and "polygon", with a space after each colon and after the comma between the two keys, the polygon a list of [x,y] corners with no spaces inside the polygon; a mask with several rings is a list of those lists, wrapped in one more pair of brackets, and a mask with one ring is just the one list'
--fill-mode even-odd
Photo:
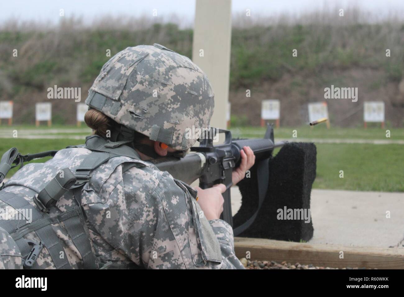
{"label": "soldier in camouflage uniform and helmet aiming a rifle", "polygon": [[[86,99],[88,113],[107,116],[109,129],[90,125],[96,135],[87,137],[85,145],[60,150],[45,163],[23,166],[0,191],[0,209],[11,208],[8,215],[16,215],[13,195],[22,199],[19,205],[36,208],[32,197],[38,198],[61,169],[77,173],[86,169],[83,164],[94,152],[109,154],[81,187],[42,209],[47,211],[42,218],[48,222],[46,232],[53,231],[57,240],[45,240],[33,268],[242,269],[234,253],[233,230],[219,219],[225,186],[194,189],[147,162],[194,145],[196,139],[185,137],[185,129],[209,125],[213,97],[202,70],[164,46],[128,47],[112,57]],[[254,164],[250,148],[241,156],[234,183]],[[76,235],[69,222],[73,215],[82,224]],[[6,232],[0,224],[0,268],[23,268],[21,242],[44,241],[42,229],[30,232],[27,226],[33,224],[39,223],[18,223],[14,229],[20,236],[10,225],[5,225],[10,228]]]}

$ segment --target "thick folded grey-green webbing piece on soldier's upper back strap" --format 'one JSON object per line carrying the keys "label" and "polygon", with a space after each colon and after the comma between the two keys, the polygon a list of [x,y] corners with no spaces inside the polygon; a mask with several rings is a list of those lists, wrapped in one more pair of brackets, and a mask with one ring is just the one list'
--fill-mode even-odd
{"label": "thick folded grey-green webbing piece on soldier's upper back strap", "polygon": [[61,169],[39,192],[38,200],[40,200],[46,209],[49,209],[75,182],[76,177],[69,168]]}

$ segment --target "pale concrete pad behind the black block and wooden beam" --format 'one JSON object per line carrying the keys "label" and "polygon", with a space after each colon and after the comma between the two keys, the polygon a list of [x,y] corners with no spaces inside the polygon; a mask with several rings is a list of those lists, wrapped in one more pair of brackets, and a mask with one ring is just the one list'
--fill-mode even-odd
{"label": "pale concrete pad behind the black block and wooden beam", "polygon": [[[235,214],[241,205],[238,187],[231,188],[231,200]],[[314,189],[311,218],[309,243],[404,249],[404,193]]]}

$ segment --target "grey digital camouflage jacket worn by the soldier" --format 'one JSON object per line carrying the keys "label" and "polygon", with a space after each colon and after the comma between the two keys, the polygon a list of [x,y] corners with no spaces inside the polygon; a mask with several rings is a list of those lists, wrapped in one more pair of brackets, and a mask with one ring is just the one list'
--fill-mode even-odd
{"label": "grey digital camouflage jacket worn by the soldier", "polygon": [[[10,193],[35,206],[32,197],[60,169],[74,171],[90,153],[84,147],[67,148],[45,163],[23,166],[0,191],[0,208],[15,215],[15,209],[1,201],[2,195]],[[136,160],[117,156],[98,166],[82,187],[80,201],[80,220],[91,238],[95,268],[243,269],[234,253],[231,226],[199,215],[202,211],[195,198],[196,191],[189,185],[140,157]],[[50,208],[49,215],[59,218],[74,206],[77,207],[74,194],[66,192]],[[5,214],[0,214],[1,219]],[[63,268],[84,268],[68,226],[59,219],[50,226],[62,248],[56,255],[63,255],[69,264]],[[40,240],[35,231],[24,238]],[[0,268],[23,268],[19,247],[2,228],[0,240]],[[53,257],[44,246],[34,268],[57,268]]]}

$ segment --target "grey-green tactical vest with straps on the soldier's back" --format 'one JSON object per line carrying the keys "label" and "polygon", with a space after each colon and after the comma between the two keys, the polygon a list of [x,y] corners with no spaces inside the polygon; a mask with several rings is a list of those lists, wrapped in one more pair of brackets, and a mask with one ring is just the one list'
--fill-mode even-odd
{"label": "grey-green tactical vest with straps on the soldier's back", "polygon": [[[93,171],[112,158],[114,159],[111,170],[119,165],[123,166],[123,171],[133,166],[150,165],[150,163],[140,160],[133,148],[124,145],[126,142],[110,142],[96,135],[86,137],[84,145],[66,148],[89,150],[89,152],[86,151],[86,155],[80,162],[77,160],[73,163],[70,162],[71,164],[67,167],[64,167],[63,163],[69,163],[69,160],[60,160],[61,162],[56,162],[56,164],[52,164],[52,162],[50,164],[47,164],[48,162],[31,163],[28,171],[37,172],[37,176],[41,178],[18,178],[19,170],[13,178],[2,184],[0,187],[0,200],[2,202],[15,210],[32,211],[32,219],[29,222],[24,214],[18,214],[21,219],[0,220],[0,227],[10,234],[19,247],[23,257],[23,268],[40,268],[36,260],[44,247],[57,269],[72,268],[67,257],[61,257],[64,253],[63,242],[57,236],[57,232],[61,232],[61,230],[57,230],[57,228],[55,230],[55,226],[63,226],[63,231],[67,232],[76,250],[80,253],[82,259],[80,268],[104,269],[111,266],[111,262],[98,263],[96,259],[85,223],[86,215],[81,206],[81,193]],[[0,183],[11,168],[20,166],[21,169],[24,162],[46,156],[54,157],[57,152],[47,151],[23,156],[15,147],[11,148],[3,154],[0,161]],[[107,175],[105,174],[105,179],[108,177]],[[16,176],[17,178],[15,178]],[[63,207],[65,211],[61,211],[55,204],[62,197],[68,197],[66,195],[74,196],[73,203],[65,205]],[[36,234],[35,238],[40,239],[39,241],[32,240],[34,233]]]}

